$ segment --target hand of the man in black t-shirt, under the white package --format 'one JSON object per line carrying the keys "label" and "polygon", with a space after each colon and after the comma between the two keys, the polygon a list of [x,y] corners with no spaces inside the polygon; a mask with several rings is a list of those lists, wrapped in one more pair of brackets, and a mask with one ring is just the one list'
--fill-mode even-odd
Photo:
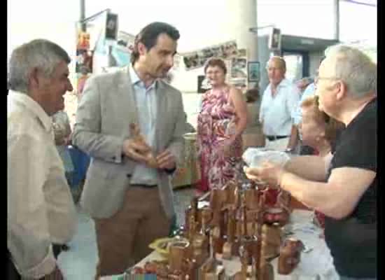
{"label": "hand of the man in black t-shirt, under the white package", "polygon": [[269,186],[279,186],[281,177],[285,172],[283,167],[265,162],[262,167],[245,167],[244,172],[248,179],[265,183]]}

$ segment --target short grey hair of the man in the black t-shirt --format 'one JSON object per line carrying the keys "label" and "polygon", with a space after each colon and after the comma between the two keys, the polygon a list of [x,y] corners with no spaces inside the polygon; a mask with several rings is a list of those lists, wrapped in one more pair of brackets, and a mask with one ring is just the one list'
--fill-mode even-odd
{"label": "short grey hair of the man in the black t-shirt", "polygon": [[351,97],[377,94],[377,64],[364,52],[348,45],[333,45],[325,50],[325,56],[335,59],[335,77],[346,84]]}

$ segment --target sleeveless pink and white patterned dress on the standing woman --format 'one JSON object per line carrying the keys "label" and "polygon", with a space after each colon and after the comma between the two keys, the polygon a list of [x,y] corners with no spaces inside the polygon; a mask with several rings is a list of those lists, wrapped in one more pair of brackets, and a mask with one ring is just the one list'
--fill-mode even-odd
{"label": "sleeveless pink and white patterned dress on the standing woman", "polygon": [[223,144],[235,130],[237,116],[229,99],[229,87],[209,90],[202,97],[197,121],[197,151],[201,165],[201,191],[221,188],[241,171],[241,136],[223,153]]}

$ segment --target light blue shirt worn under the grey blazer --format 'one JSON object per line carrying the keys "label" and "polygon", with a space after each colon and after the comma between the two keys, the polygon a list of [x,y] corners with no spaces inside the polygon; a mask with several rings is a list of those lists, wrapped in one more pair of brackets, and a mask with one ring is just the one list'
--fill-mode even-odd
{"label": "light blue shirt worn under the grey blazer", "polygon": [[[146,142],[151,148],[155,148],[155,125],[157,115],[157,96],[155,80],[149,87],[145,87],[132,66],[129,66],[130,78],[137,103],[137,112],[139,118],[139,127],[141,134],[144,135]],[[156,185],[158,183],[158,172],[155,168],[147,167],[139,163],[134,168],[130,183],[142,185]]]}

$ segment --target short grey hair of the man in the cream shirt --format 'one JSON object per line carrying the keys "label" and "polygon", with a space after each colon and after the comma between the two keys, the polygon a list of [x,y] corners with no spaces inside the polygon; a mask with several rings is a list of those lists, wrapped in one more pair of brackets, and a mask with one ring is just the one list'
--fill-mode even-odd
{"label": "short grey hair of the man in the cream shirt", "polygon": [[36,39],[13,50],[8,64],[8,87],[10,90],[28,93],[29,74],[35,68],[51,77],[59,62],[69,64],[68,53],[56,43]]}

